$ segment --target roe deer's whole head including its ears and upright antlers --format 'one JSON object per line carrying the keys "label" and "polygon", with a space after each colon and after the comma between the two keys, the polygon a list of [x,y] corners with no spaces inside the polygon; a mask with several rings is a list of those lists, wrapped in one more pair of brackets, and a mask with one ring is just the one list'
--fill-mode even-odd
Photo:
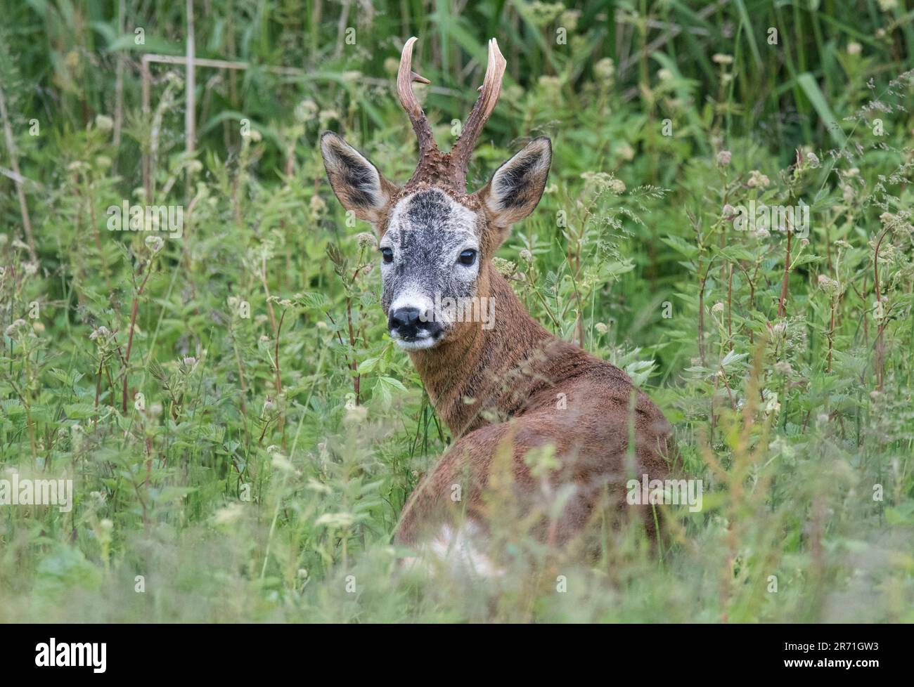
{"label": "roe deer's whole head including its ears and upright antlers", "polygon": [[333,132],[321,136],[327,178],[340,203],[374,227],[381,257],[381,305],[390,336],[407,350],[431,348],[452,338],[462,322],[441,303],[489,295],[491,259],[512,224],[537,206],[546,185],[552,148],[537,138],[508,160],[488,184],[467,194],[466,171],[505,74],[495,39],[473,111],[450,153],[441,153],[412,81],[416,38],[403,47],[397,77],[400,104],[419,139],[419,164],[401,186]]}

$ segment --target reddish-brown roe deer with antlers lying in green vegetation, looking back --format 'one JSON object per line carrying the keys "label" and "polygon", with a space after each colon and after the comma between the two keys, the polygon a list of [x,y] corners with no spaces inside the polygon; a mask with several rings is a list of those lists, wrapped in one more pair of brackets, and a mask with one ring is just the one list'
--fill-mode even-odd
{"label": "reddish-brown roe deer with antlers lying in green vegetation, looking back", "polygon": [[[481,93],[451,153],[438,150],[412,91],[411,81],[429,83],[411,69],[416,40],[406,42],[397,77],[419,139],[409,182],[392,184],[333,132],[322,134],[321,151],[340,203],[375,229],[390,336],[408,351],[454,439],[409,497],[396,541],[445,553],[456,547],[485,568],[489,516],[498,507],[492,482],[504,482],[493,479],[505,470],[500,458],[517,517],[538,540],[562,546],[581,541],[604,507],[622,511],[627,480],[664,480],[671,428],[622,370],[535,322],[493,267],[509,227],[539,203],[552,158],[549,139],[536,138],[483,188],[466,192],[473,144],[505,73],[495,39]],[[452,303],[471,299],[489,303],[494,322],[456,316]],[[528,465],[533,449],[553,451],[551,470]],[[649,509],[629,510],[653,536]]]}

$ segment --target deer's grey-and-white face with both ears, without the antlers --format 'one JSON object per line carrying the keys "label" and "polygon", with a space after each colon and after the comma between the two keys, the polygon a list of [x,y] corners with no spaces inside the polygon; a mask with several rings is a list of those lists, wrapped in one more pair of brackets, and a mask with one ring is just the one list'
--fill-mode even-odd
{"label": "deer's grey-and-white face with both ears, without the antlers", "polygon": [[[404,192],[334,133],[321,140],[336,196],[375,228],[388,330],[401,348],[431,348],[468,312],[485,321],[497,312],[484,277],[509,227],[537,206],[546,185],[551,147],[528,143],[492,180],[458,199],[446,186]],[[472,301],[473,298],[477,299]],[[472,304],[471,304],[472,301]]]}

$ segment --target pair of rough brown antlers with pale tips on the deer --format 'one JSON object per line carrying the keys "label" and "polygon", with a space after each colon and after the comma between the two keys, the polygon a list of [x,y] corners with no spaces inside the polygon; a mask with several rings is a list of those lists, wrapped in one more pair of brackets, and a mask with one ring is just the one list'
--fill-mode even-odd
{"label": "pair of rough brown antlers with pale tips on the deer", "polygon": [[485,79],[479,88],[479,98],[473,105],[473,111],[466,120],[463,131],[454,143],[451,153],[441,153],[435,138],[431,134],[431,126],[425,112],[412,92],[412,82],[430,83],[412,70],[412,48],[418,38],[411,37],[403,46],[400,55],[400,65],[397,72],[397,97],[403,109],[409,115],[412,129],[419,139],[419,164],[416,171],[407,183],[407,187],[421,184],[438,184],[450,187],[454,192],[466,192],[466,168],[470,163],[473,145],[483,131],[485,122],[489,119],[498,102],[502,90],[502,78],[505,76],[507,62],[498,49],[498,41],[489,40],[489,63],[485,69]]}

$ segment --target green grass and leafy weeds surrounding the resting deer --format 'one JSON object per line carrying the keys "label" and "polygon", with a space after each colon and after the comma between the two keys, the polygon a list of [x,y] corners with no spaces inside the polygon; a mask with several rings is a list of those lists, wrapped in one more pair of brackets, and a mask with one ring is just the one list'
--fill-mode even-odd
{"label": "green grass and leafy weeds surrounding the resting deer", "polygon": [[[75,484],[69,513],[0,506],[0,621],[914,620],[909,3],[382,3],[340,23],[319,0],[214,2],[197,57],[251,67],[198,69],[193,160],[183,69],[153,66],[148,114],[138,70],[184,53],[183,6],[128,0],[119,37],[117,5],[31,0],[0,29],[36,251],[0,176],[0,479]],[[485,39],[505,53],[471,185],[552,138],[499,255],[537,320],[654,398],[705,481],[659,552],[623,529],[580,565],[506,521],[498,581],[398,572],[403,502],[449,437],[387,338],[377,268],[353,277],[377,257],[316,140],[409,177],[389,62],[410,35],[444,148]],[[186,211],[157,251],[106,227],[145,202],[148,150],[151,201]],[[786,298],[786,235],[723,211],[753,199],[811,207]]]}

